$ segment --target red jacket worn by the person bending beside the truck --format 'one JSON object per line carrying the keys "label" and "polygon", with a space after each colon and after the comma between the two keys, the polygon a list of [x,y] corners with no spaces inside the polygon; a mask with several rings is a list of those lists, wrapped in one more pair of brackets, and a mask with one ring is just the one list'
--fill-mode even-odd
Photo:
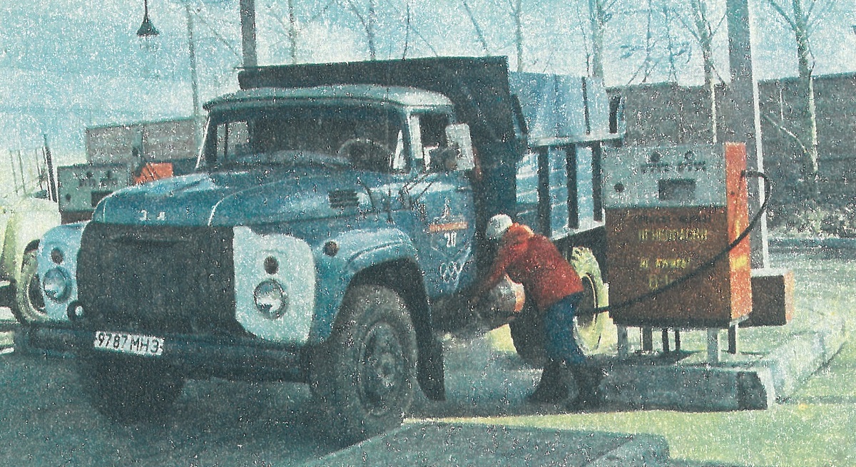
{"label": "red jacket worn by the person bending beside the truck", "polygon": [[580,275],[556,245],[522,224],[512,224],[502,235],[490,275],[482,281],[479,293],[496,286],[505,274],[523,284],[526,295],[535,300],[539,310],[547,310],[568,295],[583,291]]}

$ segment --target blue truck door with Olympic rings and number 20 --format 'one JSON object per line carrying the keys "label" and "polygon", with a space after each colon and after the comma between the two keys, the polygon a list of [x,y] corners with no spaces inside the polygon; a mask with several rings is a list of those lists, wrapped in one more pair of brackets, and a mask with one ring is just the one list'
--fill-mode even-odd
{"label": "blue truck door with Olympic rings and number 20", "polygon": [[475,277],[473,189],[455,166],[446,127],[449,115],[414,113],[408,119],[413,178],[401,188],[397,222],[409,223],[430,297],[448,295]]}

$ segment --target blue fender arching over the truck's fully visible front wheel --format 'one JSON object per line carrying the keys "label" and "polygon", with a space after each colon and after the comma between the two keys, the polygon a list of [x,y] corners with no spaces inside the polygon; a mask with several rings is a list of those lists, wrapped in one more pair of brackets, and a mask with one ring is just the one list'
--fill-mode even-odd
{"label": "blue fender arching over the truck's fully visible front wheel", "polygon": [[416,249],[397,228],[357,229],[330,237],[315,250],[318,300],[309,341],[326,340],[348,290],[362,270],[397,260],[416,261]]}

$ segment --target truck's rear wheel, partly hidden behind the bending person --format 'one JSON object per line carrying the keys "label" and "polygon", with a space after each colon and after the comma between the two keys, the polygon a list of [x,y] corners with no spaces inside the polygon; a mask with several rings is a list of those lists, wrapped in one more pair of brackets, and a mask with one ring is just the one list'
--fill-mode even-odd
{"label": "truck's rear wheel, partly hidden behind the bending person", "polygon": [[[574,247],[568,255],[568,263],[574,266],[583,282],[583,299],[574,317],[574,339],[586,356],[609,352],[617,342],[617,333],[609,312],[594,312],[609,304],[597,258],[588,248]],[[543,326],[543,314],[530,302],[508,325],[518,355],[535,368],[544,366],[547,358]]]}

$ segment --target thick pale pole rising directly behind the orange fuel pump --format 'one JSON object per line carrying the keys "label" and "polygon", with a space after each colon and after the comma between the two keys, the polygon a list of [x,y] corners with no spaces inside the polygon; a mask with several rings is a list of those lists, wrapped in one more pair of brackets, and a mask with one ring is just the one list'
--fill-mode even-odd
{"label": "thick pale pole rising directly behind the orange fuel pump", "polygon": [[[746,142],[746,168],[764,171],[764,151],[761,145],[761,114],[758,108],[758,80],[753,72],[752,17],[748,0],[726,0],[728,17],[728,65],[731,84],[723,100],[720,141]],[[749,182],[750,216],[764,203],[764,190],[760,180]],[[763,216],[752,243],[752,268],[765,268],[770,264],[767,247],[767,217]]]}

